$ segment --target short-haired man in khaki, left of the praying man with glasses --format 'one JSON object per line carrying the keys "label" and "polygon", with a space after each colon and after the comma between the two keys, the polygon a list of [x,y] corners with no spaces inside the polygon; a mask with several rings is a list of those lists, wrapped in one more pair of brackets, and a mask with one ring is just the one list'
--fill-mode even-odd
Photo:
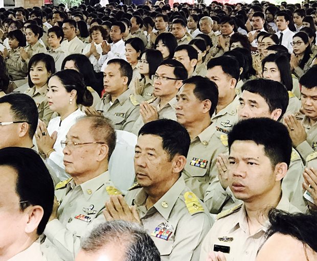
{"label": "short-haired man in khaki, left of the praying man with glasses", "polygon": [[[130,101],[132,67],[123,59],[112,59],[103,72],[103,86],[107,94],[96,105],[96,110],[109,118],[116,130],[131,132],[139,117],[138,104]],[[95,114],[94,108],[86,109],[87,114]]]}

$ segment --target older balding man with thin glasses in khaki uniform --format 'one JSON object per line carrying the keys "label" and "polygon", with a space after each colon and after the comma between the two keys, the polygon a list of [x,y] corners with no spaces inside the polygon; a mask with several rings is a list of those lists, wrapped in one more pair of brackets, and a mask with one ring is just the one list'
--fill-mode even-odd
{"label": "older balding man with thin glasses in khaki uniform", "polygon": [[50,260],[57,255],[63,260],[74,260],[81,237],[104,222],[103,200],[120,194],[108,172],[115,145],[115,130],[102,116],[82,118],[67,133],[64,165],[72,178],[55,187],[54,210],[42,244]]}

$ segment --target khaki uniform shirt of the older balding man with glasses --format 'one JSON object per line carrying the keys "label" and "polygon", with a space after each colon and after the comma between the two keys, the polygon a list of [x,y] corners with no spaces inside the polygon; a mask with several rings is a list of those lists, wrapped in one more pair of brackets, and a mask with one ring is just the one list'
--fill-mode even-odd
{"label": "khaki uniform shirt of the older balding man with glasses", "polygon": [[49,260],[58,255],[63,260],[74,260],[80,250],[82,236],[105,222],[103,209],[109,195],[121,194],[110,181],[108,171],[76,185],[72,178],[58,183],[55,196],[59,202],[57,219],[50,221],[45,230],[42,251]]}

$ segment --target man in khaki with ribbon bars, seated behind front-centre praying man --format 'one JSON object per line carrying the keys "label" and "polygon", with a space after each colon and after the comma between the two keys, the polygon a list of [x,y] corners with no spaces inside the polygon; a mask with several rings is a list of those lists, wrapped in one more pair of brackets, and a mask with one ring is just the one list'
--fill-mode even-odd
{"label": "man in khaki with ribbon bars, seated behind front-centre praying man", "polygon": [[183,83],[176,96],[176,117],[191,138],[183,177],[186,185],[203,199],[217,176],[217,156],[227,152],[227,136],[217,131],[210,121],[218,101],[216,85],[201,76],[193,76]]}

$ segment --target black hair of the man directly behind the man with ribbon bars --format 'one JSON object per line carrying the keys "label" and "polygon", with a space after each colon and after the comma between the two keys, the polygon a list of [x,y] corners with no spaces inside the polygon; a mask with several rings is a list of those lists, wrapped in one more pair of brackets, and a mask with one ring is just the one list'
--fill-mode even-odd
{"label": "black hair of the man directly behind the man with ribbon bars", "polygon": [[207,64],[207,69],[211,69],[215,66],[221,66],[223,73],[229,75],[239,81],[240,68],[236,58],[231,56],[221,56],[211,59]]}

